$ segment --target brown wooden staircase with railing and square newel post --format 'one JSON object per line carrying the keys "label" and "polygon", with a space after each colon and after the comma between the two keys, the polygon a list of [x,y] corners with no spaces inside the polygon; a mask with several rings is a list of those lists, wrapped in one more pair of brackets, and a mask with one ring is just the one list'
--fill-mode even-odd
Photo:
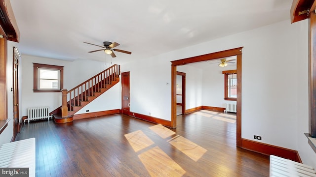
{"label": "brown wooden staircase with railing and square newel post", "polygon": [[71,90],[62,89],[62,106],[51,112],[56,123],[73,121],[85,105],[119,82],[120,66],[115,64]]}

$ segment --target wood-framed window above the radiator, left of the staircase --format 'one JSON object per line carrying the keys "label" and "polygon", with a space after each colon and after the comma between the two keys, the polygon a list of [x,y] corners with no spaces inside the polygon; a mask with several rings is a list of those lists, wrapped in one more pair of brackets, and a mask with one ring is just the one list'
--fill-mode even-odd
{"label": "wood-framed window above the radiator, left of the staircase", "polygon": [[63,66],[33,63],[34,92],[59,92],[63,89]]}

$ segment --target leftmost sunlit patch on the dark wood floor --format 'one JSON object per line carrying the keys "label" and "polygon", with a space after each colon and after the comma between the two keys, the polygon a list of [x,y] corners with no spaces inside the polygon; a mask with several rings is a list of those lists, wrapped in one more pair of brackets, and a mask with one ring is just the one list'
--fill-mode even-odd
{"label": "leftmost sunlit patch on the dark wood floor", "polygon": [[135,152],[147,148],[154,144],[154,142],[148,138],[141,130],[134,131],[124,135],[130,146]]}

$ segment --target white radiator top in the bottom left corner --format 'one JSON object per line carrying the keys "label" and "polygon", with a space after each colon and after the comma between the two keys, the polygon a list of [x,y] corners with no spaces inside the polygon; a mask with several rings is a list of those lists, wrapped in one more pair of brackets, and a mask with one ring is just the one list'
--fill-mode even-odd
{"label": "white radiator top in the bottom left corner", "polygon": [[29,177],[35,177],[35,138],[6,143],[0,147],[0,168],[29,168]]}

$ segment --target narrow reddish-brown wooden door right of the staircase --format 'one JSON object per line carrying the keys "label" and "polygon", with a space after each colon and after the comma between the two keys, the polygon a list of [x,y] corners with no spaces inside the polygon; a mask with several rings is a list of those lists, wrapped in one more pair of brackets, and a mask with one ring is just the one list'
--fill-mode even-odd
{"label": "narrow reddish-brown wooden door right of the staircase", "polygon": [[129,95],[129,71],[122,72],[122,114],[129,115],[130,95]]}

